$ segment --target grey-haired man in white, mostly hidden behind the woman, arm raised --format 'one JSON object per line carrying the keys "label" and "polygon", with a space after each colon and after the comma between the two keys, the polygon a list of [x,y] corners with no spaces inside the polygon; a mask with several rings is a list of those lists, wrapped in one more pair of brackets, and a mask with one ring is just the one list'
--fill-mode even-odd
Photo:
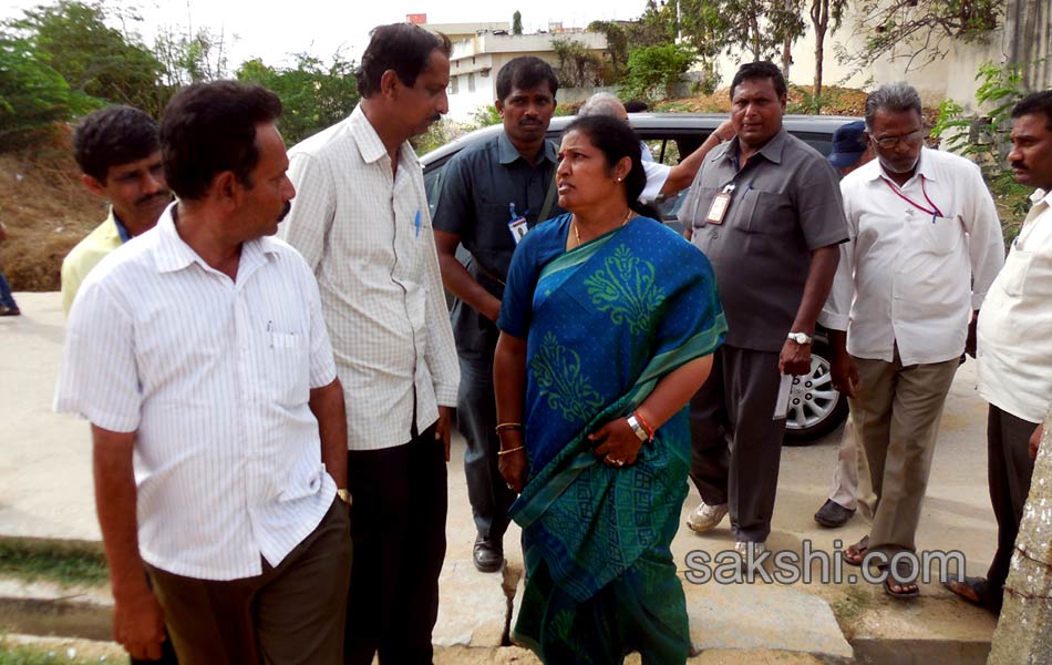
{"label": "grey-haired man in white, mostly hidden behind the woman, arm raised", "polygon": [[[628,111],[625,109],[625,104],[609,92],[597,92],[591,95],[587,102],[581,104],[577,113],[578,115],[609,115],[628,122]],[[641,203],[652,203],[658,196],[674,196],[678,194],[680,190],[694,182],[694,176],[698,175],[698,170],[701,168],[709,151],[733,137],[734,125],[728,119],[705,137],[704,143],[698,146],[698,150],[683,157],[674,166],[654,162],[647,144],[640,143],[641,154],[644,157],[650,155],[650,158],[642,160],[643,171],[647,172],[647,186],[639,195],[639,201]]]}

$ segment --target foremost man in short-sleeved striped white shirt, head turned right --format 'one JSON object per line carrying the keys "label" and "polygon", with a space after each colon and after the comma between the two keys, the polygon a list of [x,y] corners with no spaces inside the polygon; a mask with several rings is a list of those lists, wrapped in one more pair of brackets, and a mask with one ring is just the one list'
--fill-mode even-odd
{"label": "foremost man in short-sleeved striped white shirt, head turned right", "polygon": [[55,409],[92,424],[114,636],[135,658],[166,623],[184,663],[342,661],[343,391],[310,269],[266,237],[295,195],[280,113],[259,86],[179,92],[161,127],[179,202],[70,313]]}

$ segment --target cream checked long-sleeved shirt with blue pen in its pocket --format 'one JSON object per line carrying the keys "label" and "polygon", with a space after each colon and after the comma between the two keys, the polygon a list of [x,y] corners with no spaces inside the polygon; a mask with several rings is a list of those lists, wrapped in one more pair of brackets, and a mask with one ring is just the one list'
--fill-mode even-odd
{"label": "cream checked long-sleeved shirt with blue pen in its pocket", "polygon": [[456,406],[460,366],[439,273],[420,162],[409,143],[398,174],[358,106],[289,151],[297,195],[279,233],[321,289],[347,397],[348,446],[408,443],[437,407]]}

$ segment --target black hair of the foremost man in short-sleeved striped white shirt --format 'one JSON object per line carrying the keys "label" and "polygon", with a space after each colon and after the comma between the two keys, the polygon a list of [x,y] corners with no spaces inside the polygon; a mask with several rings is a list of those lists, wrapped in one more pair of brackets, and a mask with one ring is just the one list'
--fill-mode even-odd
{"label": "black hair of the foremost man in short-sleeved striped white shirt", "polygon": [[251,187],[259,163],[256,125],[275,122],[281,100],[261,85],[195,83],[179,91],[161,119],[161,153],[168,186],[188,201],[204,197],[213,177],[233,171]]}

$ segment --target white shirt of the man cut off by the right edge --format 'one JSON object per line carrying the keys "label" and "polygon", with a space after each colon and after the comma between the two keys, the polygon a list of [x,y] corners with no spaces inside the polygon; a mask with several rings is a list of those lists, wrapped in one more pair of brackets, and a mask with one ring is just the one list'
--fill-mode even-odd
{"label": "white shirt of the man cut off by the right edge", "polygon": [[1041,422],[1052,403],[1052,193],[1031,201],[979,313],[979,395]]}

